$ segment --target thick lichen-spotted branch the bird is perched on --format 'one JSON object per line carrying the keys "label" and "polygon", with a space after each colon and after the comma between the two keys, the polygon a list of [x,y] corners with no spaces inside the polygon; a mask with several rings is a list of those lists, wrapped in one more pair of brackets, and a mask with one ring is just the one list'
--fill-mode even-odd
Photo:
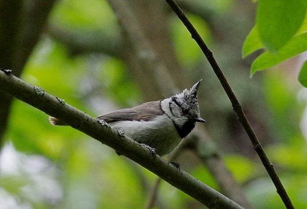
{"label": "thick lichen-spotted branch the bird is perched on", "polygon": [[30,104],[48,115],[57,117],[73,128],[113,148],[209,208],[243,208],[186,172],[178,171],[163,158],[152,156],[146,148],[131,138],[119,134],[107,123],[101,121],[99,123],[84,112],[65,104],[63,100],[47,94],[42,89],[13,75],[6,75],[3,71],[0,71],[0,91]]}

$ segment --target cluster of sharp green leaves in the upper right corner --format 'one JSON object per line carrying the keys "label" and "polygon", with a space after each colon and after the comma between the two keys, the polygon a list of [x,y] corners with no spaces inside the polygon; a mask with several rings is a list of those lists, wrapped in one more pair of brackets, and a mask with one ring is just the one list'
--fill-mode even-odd
{"label": "cluster of sharp green leaves in the upper right corner", "polygon": [[[245,39],[242,56],[265,49],[251,65],[250,75],[307,51],[307,1],[261,0],[255,25]],[[307,87],[307,65],[298,81]]]}

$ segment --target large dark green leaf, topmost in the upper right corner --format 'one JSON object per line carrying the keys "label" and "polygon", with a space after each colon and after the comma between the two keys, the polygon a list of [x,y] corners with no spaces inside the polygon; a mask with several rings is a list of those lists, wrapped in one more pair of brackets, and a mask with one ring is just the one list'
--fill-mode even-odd
{"label": "large dark green leaf, topmost in the upper right corner", "polygon": [[306,14],[305,0],[261,0],[256,24],[262,43],[277,52],[297,32]]}

